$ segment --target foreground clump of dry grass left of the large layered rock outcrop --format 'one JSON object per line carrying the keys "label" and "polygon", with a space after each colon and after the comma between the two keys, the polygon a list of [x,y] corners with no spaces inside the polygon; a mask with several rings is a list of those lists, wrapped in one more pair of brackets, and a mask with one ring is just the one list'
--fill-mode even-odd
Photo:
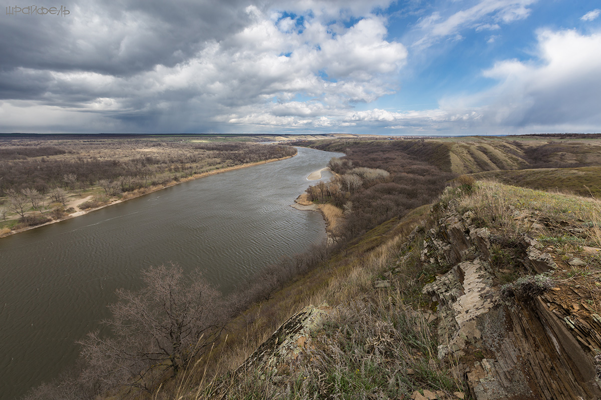
{"label": "foreground clump of dry grass left of the large layered rock outcrop", "polygon": [[429,389],[439,396],[461,390],[437,357],[436,327],[406,306],[398,290],[348,300],[314,332],[301,361],[281,371],[246,371],[226,381],[223,396],[195,400],[408,398]]}

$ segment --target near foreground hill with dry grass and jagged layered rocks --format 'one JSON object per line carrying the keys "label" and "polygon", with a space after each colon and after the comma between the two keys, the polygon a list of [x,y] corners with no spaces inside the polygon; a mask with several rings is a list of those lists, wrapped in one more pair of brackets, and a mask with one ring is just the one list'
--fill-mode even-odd
{"label": "near foreground hill with dry grass and jagged layered rocks", "polygon": [[448,188],[368,233],[382,244],[332,266],[319,306],[210,396],[599,398],[600,215],[581,197]]}

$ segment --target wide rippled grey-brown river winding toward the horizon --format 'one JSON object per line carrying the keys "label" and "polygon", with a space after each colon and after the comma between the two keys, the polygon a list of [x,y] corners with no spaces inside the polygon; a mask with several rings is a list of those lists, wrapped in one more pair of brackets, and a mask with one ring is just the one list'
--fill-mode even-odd
{"label": "wide rippled grey-brown river winding toward the horizon", "polygon": [[341,154],[298,151],[1,238],[0,399],[72,365],[75,341],[109,316],[117,288],[139,287],[145,267],[200,266],[227,293],[282,255],[325,240],[320,214],[290,204],[311,172]]}

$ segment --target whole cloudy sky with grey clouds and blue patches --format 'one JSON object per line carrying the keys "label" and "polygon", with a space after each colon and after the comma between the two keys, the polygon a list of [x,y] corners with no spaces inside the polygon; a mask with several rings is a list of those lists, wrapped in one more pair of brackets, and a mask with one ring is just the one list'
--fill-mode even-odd
{"label": "whole cloudy sky with grey clouds and blue patches", "polygon": [[16,0],[0,13],[0,132],[601,131],[599,0]]}

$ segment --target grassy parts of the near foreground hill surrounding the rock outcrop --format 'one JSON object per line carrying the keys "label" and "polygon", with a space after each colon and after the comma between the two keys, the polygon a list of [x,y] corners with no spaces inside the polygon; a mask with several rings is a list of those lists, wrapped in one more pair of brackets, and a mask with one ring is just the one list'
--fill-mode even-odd
{"label": "grassy parts of the near foreground hill surrounding the rock outcrop", "polygon": [[[460,213],[471,210],[479,224],[504,237],[533,234],[532,224],[507,215],[529,213],[547,221],[547,226],[537,231],[535,237],[554,249],[552,255],[561,267],[554,273],[558,285],[569,288],[588,282],[592,298],[599,299],[599,287],[590,285],[590,279],[601,280],[601,260],[598,255],[583,251],[585,245],[601,246],[599,201],[495,182],[479,182],[471,194],[447,190],[441,201],[449,204],[451,200]],[[278,383],[269,381],[273,370],[246,371],[241,378],[225,378],[228,389],[221,395],[228,399],[310,399],[315,395],[343,399],[406,398],[415,390],[430,390],[444,394],[445,398],[456,398],[452,393],[464,391],[462,380],[453,375],[453,363],[441,362],[437,357],[436,322],[428,322],[429,299],[421,294],[426,282],[445,272],[441,266],[419,261],[421,242],[440,216],[441,207],[430,209],[430,206],[419,207],[405,218],[379,225],[351,243],[346,252],[329,260],[327,266],[302,277],[264,303],[261,309],[271,310],[266,315],[270,318],[277,315],[281,322],[286,315],[310,303],[326,301],[337,305],[338,311],[322,329],[312,333],[308,356],[286,366],[289,369],[284,378],[278,377]],[[588,229],[576,236],[566,236],[566,224]],[[408,240],[407,233],[416,225],[423,229],[413,235],[413,240]],[[498,263],[495,267],[509,268],[504,263],[510,259],[502,256],[513,250],[494,248]],[[567,260],[575,256],[585,260],[587,266],[568,267]],[[527,273],[514,270],[496,283],[513,281]],[[374,289],[374,282],[380,279],[388,280],[391,286]],[[599,311],[601,303],[591,308]],[[279,311],[274,314],[275,310]],[[263,320],[263,317],[258,319]],[[273,324],[272,331],[278,325]],[[215,395],[205,397],[195,392],[191,398]]]}

